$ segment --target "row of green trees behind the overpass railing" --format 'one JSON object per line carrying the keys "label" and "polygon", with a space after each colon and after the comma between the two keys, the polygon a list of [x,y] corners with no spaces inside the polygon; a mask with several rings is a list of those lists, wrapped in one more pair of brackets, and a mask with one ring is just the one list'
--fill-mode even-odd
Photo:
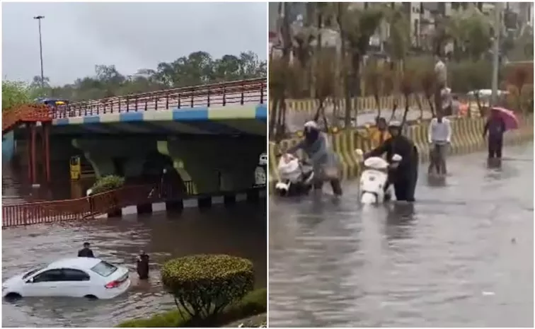
{"label": "row of green trees behind the overpass railing", "polygon": [[131,93],[159,91],[166,88],[196,86],[266,76],[267,65],[253,52],[238,56],[226,54],[214,59],[207,52],[192,52],[173,62],[161,62],[156,69],[139,69],[135,74],[120,74],[115,65],[96,65],[95,75],[76,79],[65,86],[50,86],[45,77],[41,88],[40,76],[31,86],[41,94],[71,101],[100,99]]}

